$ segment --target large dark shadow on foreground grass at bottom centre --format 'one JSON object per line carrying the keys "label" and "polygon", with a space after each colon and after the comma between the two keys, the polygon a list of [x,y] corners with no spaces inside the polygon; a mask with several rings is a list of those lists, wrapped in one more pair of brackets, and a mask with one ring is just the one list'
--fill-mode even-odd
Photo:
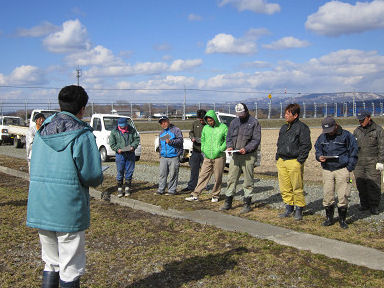
{"label": "large dark shadow on foreground grass at bottom centre", "polygon": [[231,249],[224,253],[195,256],[181,261],[174,261],[164,265],[164,270],[138,280],[127,288],[134,287],[181,287],[191,281],[203,279],[206,276],[225,274],[237,265],[233,255],[247,253],[245,247]]}

